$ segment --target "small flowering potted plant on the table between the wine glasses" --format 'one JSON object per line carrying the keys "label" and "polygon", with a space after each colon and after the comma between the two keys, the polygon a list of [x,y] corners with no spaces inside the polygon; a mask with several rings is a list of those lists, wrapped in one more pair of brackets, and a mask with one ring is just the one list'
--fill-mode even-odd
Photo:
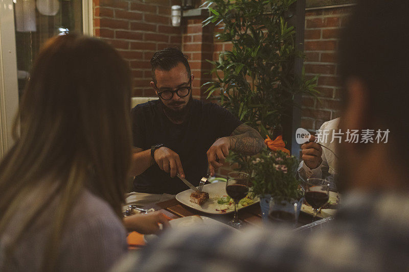
{"label": "small flowering potted plant on the table between the wine glasses", "polygon": [[299,161],[285,149],[282,136],[266,139],[267,149],[252,157],[253,195],[260,197],[263,219],[268,210],[279,219],[292,216],[297,221],[303,202],[303,192],[296,177]]}

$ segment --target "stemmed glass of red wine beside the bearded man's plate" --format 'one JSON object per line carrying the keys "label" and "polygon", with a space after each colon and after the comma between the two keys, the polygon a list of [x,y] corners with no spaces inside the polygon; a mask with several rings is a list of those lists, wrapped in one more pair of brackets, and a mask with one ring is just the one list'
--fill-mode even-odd
{"label": "stemmed glass of red wine beside the bearded man's plate", "polygon": [[239,219],[237,209],[239,201],[244,199],[248,193],[249,177],[244,172],[230,172],[226,183],[226,192],[234,201],[234,217],[229,226],[240,229],[243,222]]}

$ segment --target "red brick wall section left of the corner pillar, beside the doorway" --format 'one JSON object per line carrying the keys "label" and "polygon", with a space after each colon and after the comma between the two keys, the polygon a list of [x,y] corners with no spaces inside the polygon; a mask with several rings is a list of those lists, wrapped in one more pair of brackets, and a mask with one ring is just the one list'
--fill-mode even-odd
{"label": "red brick wall section left of the corner pillar, beside the doorway", "polygon": [[95,36],[112,44],[129,62],[133,96],[155,96],[149,60],[168,46],[181,47],[182,28],[172,27],[176,0],[94,0]]}

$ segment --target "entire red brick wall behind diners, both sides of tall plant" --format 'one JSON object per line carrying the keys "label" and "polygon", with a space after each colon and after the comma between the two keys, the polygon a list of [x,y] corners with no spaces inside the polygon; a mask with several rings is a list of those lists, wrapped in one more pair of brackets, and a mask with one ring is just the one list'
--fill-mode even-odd
{"label": "entire red brick wall behind diners, both sides of tall plant", "polygon": [[[149,59],[167,46],[178,46],[188,55],[195,75],[193,95],[205,98],[206,88],[200,86],[211,80],[211,64],[206,59],[218,59],[221,52],[231,50],[230,43],[213,38],[213,29],[201,27],[204,18],[184,18],[180,27],[172,27],[171,5],[177,0],[94,0],[95,35],[115,46],[129,61],[132,69],[134,96],[154,96]],[[302,127],[315,130],[324,121],[339,117],[340,91],[336,65],[339,29],[353,7],[315,9],[306,12],[305,53],[306,75],[319,75],[319,97],[304,95]],[[214,76],[214,75],[213,75]]]}

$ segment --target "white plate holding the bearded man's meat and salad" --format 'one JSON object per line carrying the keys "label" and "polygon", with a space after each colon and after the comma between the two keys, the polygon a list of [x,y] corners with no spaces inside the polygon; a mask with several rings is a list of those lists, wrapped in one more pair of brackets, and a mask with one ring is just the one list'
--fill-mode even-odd
{"label": "white plate holding the bearded man's meat and salad", "polygon": [[[229,209],[226,212],[216,211],[216,209],[220,209],[220,205],[217,204],[217,198],[223,195],[227,195],[225,182],[216,182],[216,183],[206,184],[205,186],[203,186],[203,191],[209,193],[209,199],[202,206],[196,203],[190,202],[190,194],[193,192],[192,189],[176,194],[176,200],[180,202],[181,204],[185,204],[186,206],[191,207],[195,210],[210,213],[210,214],[229,214],[229,213],[234,212],[234,210],[229,210]],[[260,202],[260,200],[258,199],[258,197],[256,197],[254,199],[253,204],[258,203],[258,202]]]}

